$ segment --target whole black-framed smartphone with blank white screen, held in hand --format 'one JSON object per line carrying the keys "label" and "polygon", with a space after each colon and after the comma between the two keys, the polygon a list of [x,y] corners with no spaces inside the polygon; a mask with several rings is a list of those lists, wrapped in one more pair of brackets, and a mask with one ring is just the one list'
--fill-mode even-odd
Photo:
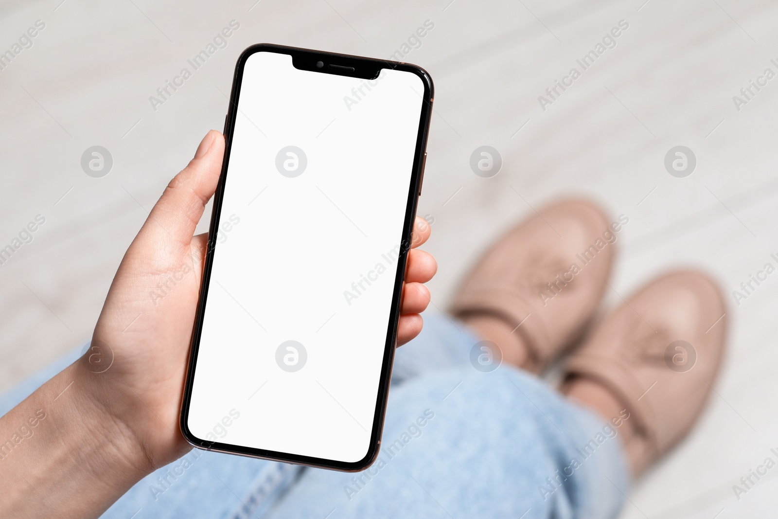
{"label": "whole black-framed smartphone with blank white screen, held in hand", "polygon": [[240,54],[180,414],[195,447],[375,460],[432,103],[415,65]]}

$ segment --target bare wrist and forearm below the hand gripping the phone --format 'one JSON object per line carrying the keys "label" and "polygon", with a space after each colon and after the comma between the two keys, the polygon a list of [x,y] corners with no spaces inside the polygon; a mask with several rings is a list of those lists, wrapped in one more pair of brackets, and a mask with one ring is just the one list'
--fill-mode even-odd
{"label": "bare wrist and forearm below the hand gripping the phone", "polygon": [[0,417],[0,517],[98,517],[151,472],[79,362]]}

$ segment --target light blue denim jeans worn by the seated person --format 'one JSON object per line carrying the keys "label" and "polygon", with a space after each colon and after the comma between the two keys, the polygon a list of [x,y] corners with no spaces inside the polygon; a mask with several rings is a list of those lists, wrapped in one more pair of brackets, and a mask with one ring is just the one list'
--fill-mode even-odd
{"label": "light blue denim jeans worn by the seated person", "polygon": [[[378,460],[333,472],[195,449],[103,517],[615,517],[629,484],[618,429],[538,378],[471,365],[478,338],[440,314],[398,349]],[[72,352],[0,399],[0,413]]]}

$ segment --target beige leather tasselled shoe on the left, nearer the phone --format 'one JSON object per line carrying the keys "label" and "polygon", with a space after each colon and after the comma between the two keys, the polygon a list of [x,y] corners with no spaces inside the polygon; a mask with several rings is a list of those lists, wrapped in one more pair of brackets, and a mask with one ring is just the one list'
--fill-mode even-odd
{"label": "beige leather tasselled shoe on the left, nearer the phone", "polygon": [[622,216],[610,223],[590,202],[549,205],[478,261],[450,311],[466,324],[491,316],[509,325],[527,349],[522,367],[539,373],[591,320],[627,222]]}

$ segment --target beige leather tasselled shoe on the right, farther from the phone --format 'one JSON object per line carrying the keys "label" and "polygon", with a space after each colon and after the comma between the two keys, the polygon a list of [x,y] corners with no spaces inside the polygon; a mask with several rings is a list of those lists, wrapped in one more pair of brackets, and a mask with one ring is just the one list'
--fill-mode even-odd
{"label": "beige leather tasselled shoe on the right, farther from the phone", "polygon": [[626,451],[636,475],[682,440],[702,412],[724,352],[725,314],[713,281],[674,272],[640,289],[566,359],[567,384],[574,377],[597,381],[629,412],[635,434]]}

